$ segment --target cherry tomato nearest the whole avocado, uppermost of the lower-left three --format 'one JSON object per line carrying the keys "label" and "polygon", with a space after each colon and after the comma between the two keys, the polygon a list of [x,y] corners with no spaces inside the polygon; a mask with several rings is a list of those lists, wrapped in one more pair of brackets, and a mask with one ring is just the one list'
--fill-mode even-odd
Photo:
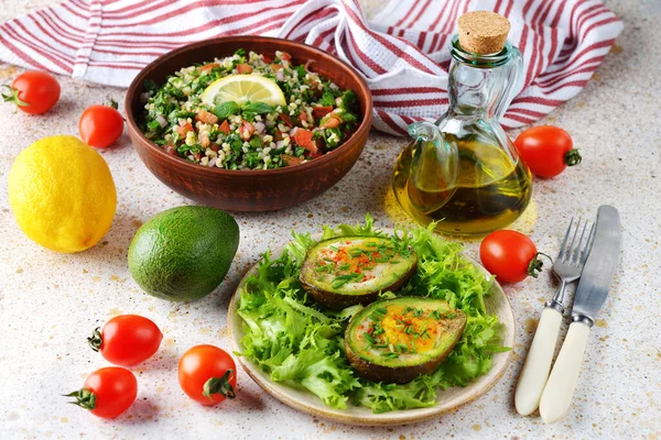
{"label": "cherry tomato nearest the whole avocado, uppermost of the lower-left three", "polygon": [[94,351],[116,365],[136,365],[150,359],[161,345],[163,333],[151,320],[138,315],[120,315],[112,318],[91,338],[87,338]]}

